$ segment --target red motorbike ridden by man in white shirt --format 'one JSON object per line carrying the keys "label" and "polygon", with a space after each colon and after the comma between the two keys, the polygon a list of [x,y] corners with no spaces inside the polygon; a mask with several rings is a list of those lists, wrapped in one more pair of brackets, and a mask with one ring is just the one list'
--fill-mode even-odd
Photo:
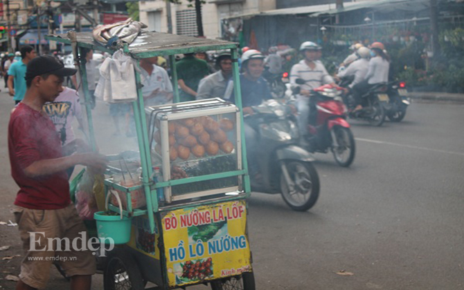
{"label": "red motorbike ridden by man in white shirt", "polygon": [[[296,84],[305,84],[303,79],[296,79]],[[316,98],[316,126],[308,126],[307,151],[311,153],[328,153],[332,151],[335,162],[343,167],[350,166],[355,160],[355,137],[346,121],[346,106],[341,97],[341,88],[325,85],[312,90],[310,97]],[[294,95],[298,88],[292,90]]]}

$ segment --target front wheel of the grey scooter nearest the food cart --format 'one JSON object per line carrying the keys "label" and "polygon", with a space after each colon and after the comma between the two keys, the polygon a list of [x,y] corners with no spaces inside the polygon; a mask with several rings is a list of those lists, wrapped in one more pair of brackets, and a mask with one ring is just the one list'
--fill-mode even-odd
{"label": "front wheel of the grey scooter nearest the food cart", "polygon": [[311,162],[285,160],[285,168],[294,186],[287,184],[285,174],[280,173],[280,191],[283,200],[294,211],[311,209],[319,197],[319,175]]}

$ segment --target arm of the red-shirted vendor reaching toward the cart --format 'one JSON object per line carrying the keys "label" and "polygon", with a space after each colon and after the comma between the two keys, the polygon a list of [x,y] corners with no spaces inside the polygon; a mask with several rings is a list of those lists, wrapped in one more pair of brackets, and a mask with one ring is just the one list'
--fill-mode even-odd
{"label": "arm of the red-shirted vendor reaching toward the cart", "polygon": [[66,171],[66,169],[78,164],[91,166],[97,168],[99,171],[103,171],[107,166],[107,160],[104,155],[98,153],[78,153],[71,156],[33,162],[33,164],[24,169],[24,173],[27,177],[37,178]]}

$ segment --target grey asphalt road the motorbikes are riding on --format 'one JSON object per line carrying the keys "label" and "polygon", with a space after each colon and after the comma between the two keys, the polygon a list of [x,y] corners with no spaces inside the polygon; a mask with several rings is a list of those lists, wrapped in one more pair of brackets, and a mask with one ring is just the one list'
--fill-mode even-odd
{"label": "grey asphalt road the motorbikes are riding on", "polygon": [[[0,93],[2,221],[10,218],[16,191],[6,147],[11,107]],[[105,118],[107,109],[100,112],[97,119]],[[316,155],[321,197],[313,209],[297,213],[280,195],[253,194],[249,233],[257,288],[464,289],[463,121],[463,105],[416,102],[400,124],[353,122],[357,156],[351,168]],[[98,138],[111,132],[104,128]],[[0,257],[20,253],[17,229],[0,229],[0,246],[12,245]],[[18,264],[19,258],[0,261],[1,271],[17,275]],[[343,270],[353,276],[337,274]],[[93,289],[102,289],[100,277]],[[14,288],[5,280],[0,285]],[[64,287],[53,273],[48,289]]]}

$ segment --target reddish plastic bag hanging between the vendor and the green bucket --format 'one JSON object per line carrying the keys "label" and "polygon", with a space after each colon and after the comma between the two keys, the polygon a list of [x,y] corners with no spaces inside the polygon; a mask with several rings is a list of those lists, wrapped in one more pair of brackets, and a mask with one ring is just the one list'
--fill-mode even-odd
{"label": "reddish plastic bag hanging between the vendor and the green bucket", "polygon": [[93,220],[93,213],[105,210],[105,176],[87,168],[75,192],[75,209],[82,220]]}

